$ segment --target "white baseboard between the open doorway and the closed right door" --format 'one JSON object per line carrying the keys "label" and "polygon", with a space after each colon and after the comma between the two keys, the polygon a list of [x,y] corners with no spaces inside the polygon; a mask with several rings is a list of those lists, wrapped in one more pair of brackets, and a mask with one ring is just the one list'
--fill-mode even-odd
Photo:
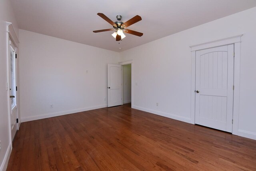
{"label": "white baseboard between the open doorway and the closed right door", "polygon": [[153,113],[153,114],[156,114],[156,115],[164,116],[164,117],[169,117],[171,119],[175,119],[175,120],[178,120],[178,121],[183,121],[183,122],[190,123],[190,118],[188,118],[188,117],[178,116],[178,115],[174,115],[174,114],[171,114],[171,113],[166,113],[166,112],[162,112],[162,111],[148,109],[148,108],[140,107],[140,106],[136,106],[136,105],[133,105],[132,108],[142,110],[142,111],[146,111],[146,112],[149,112],[149,113]]}

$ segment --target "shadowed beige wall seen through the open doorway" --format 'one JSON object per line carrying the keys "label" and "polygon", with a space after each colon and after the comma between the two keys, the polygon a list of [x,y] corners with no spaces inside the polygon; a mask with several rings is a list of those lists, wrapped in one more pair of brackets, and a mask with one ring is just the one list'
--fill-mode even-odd
{"label": "shadowed beige wall seen through the open doorway", "polygon": [[124,103],[131,102],[131,89],[132,89],[132,65],[124,65],[123,66],[123,85],[124,85]]}

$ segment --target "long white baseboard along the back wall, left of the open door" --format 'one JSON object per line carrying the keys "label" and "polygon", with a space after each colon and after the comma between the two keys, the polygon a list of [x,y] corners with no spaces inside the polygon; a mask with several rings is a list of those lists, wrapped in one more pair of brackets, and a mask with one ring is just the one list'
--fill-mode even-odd
{"label": "long white baseboard along the back wall, left of the open door", "polygon": [[100,109],[100,108],[107,107],[107,106],[108,106],[107,104],[103,104],[103,105],[96,105],[96,106],[91,106],[91,107],[84,107],[84,108],[80,108],[80,109],[72,109],[72,110],[58,111],[58,112],[53,112],[53,113],[45,113],[42,115],[21,117],[21,122],[34,121],[34,120],[38,120],[38,119],[45,119],[48,117],[55,117],[55,116],[61,116],[61,115],[68,115],[71,113],[77,113],[77,112],[81,112],[81,111]]}

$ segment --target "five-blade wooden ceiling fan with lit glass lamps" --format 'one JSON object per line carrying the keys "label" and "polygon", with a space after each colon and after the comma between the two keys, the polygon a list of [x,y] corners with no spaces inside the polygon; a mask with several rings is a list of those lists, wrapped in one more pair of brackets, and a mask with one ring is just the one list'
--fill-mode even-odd
{"label": "five-blade wooden ceiling fan with lit glass lamps", "polygon": [[113,28],[110,29],[104,29],[104,30],[94,30],[94,33],[98,33],[98,32],[107,32],[107,31],[114,31],[115,32],[112,34],[112,36],[114,38],[116,38],[116,41],[120,41],[121,39],[125,38],[126,36],[124,35],[124,32],[129,33],[129,34],[133,34],[135,36],[142,36],[143,33],[140,32],[136,32],[134,30],[129,30],[126,29],[128,26],[139,22],[141,19],[140,16],[136,15],[135,17],[131,18],[130,20],[128,20],[127,22],[123,23],[120,20],[122,19],[122,16],[117,15],[116,18],[118,21],[116,22],[112,22],[112,20],[110,20],[107,16],[105,16],[102,13],[98,13],[98,16],[100,16],[101,18],[103,18],[104,20],[106,20],[106,22],[108,22],[109,24],[111,24],[113,26]]}

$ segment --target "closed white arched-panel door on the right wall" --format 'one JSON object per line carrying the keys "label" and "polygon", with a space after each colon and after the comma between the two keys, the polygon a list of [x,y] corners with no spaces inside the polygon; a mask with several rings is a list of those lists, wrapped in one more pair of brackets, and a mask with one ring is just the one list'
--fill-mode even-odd
{"label": "closed white arched-panel door on the right wall", "polygon": [[195,123],[232,132],[234,44],[196,51]]}

